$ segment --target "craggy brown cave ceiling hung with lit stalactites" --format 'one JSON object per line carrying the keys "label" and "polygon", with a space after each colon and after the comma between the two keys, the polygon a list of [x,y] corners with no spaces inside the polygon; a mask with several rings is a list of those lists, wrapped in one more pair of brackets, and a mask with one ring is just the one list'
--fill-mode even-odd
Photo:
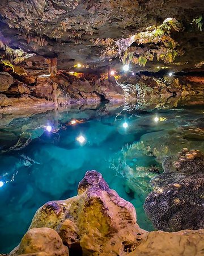
{"label": "craggy brown cave ceiling hung with lit stalactites", "polygon": [[84,70],[204,67],[203,0],[2,0],[0,47]]}

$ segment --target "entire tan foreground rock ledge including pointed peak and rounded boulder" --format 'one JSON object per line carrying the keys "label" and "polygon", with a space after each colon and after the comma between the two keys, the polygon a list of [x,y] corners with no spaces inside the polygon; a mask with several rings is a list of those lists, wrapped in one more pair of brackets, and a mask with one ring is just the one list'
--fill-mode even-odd
{"label": "entire tan foreground rock ledge including pointed peak and rounded boulder", "polygon": [[142,230],[133,205],[110,189],[99,172],[88,171],[77,196],[37,210],[19,246],[8,255],[199,256],[203,238],[204,229]]}

